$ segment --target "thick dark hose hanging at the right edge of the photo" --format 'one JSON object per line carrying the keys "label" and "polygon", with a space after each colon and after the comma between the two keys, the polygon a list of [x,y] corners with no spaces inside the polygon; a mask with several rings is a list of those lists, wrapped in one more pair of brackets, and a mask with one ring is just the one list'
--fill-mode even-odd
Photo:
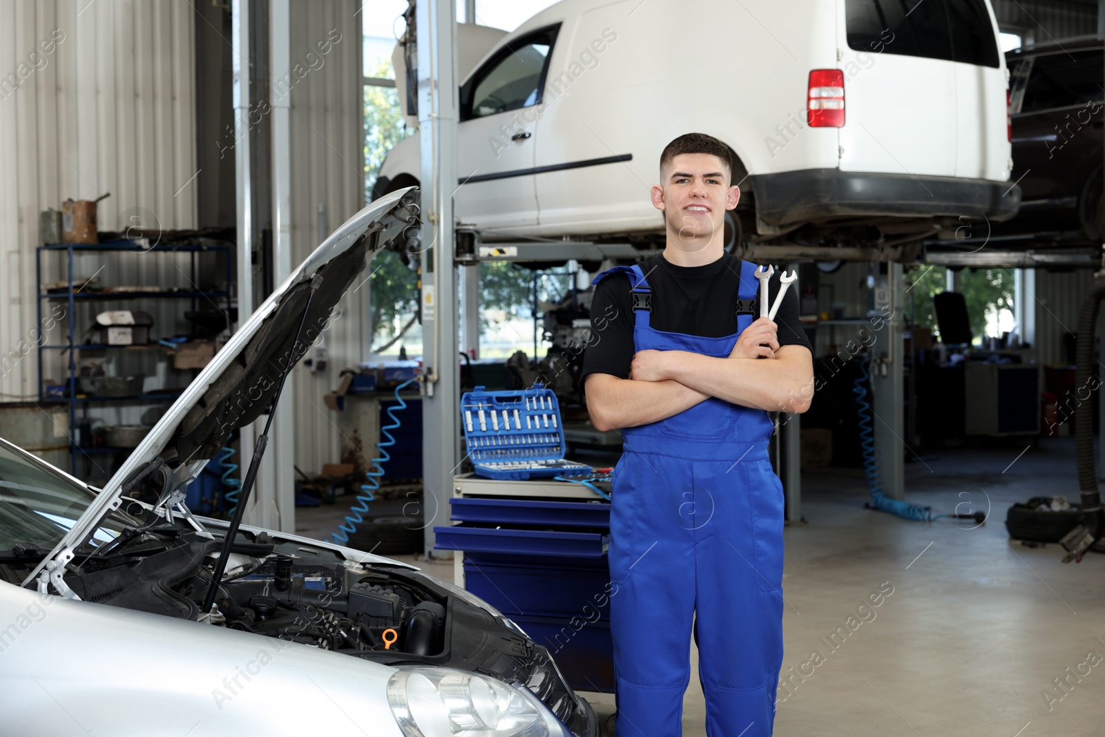
{"label": "thick dark hose hanging at the right edge of the photo", "polygon": [[[1097,309],[1105,299],[1105,276],[1094,278],[1090,293],[1082,302],[1078,316],[1078,337],[1075,369],[1075,387],[1090,387],[1093,379],[1094,340],[1097,337]],[[1077,440],[1078,488],[1082,491],[1082,516],[1094,540],[1105,531],[1102,516],[1102,496],[1098,491],[1097,471],[1094,468],[1094,413],[1083,408],[1074,413],[1074,434]]]}

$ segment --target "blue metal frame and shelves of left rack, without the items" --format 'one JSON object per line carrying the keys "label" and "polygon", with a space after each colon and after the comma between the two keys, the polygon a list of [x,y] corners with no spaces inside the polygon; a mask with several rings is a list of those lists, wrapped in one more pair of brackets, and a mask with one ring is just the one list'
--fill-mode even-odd
{"label": "blue metal frame and shelves of left rack, without the items", "polygon": [[[62,252],[66,257],[66,272],[69,275],[67,288],[63,292],[46,292],[42,287],[42,254],[43,252]],[[190,254],[190,273],[189,283],[196,285],[196,271],[197,271],[197,259],[203,254],[222,253],[223,261],[225,263],[227,270],[227,289],[217,292],[181,292],[181,291],[165,291],[165,292],[88,292],[82,293],[84,287],[74,289],[73,284],[73,255],[75,253],[86,253],[86,252],[116,252],[116,253],[188,253]],[[40,402],[57,402],[64,401],[69,403],[69,419],[70,419],[70,472],[76,475],[76,462],[80,455],[91,455],[99,453],[129,453],[134,449],[129,448],[108,448],[104,445],[93,446],[93,445],[82,445],[78,444],[76,438],[76,409],[77,406],[87,407],[91,402],[96,403],[109,403],[109,402],[171,402],[180,396],[180,391],[154,391],[145,392],[140,394],[135,394],[130,397],[77,397],[77,375],[76,375],[76,351],[78,350],[149,350],[164,348],[160,345],[143,345],[143,346],[109,346],[99,344],[78,344],[76,341],[76,316],[75,306],[76,303],[88,303],[93,301],[102,302],[115,302],[124,299],[191,299],[192,310],[197,308],[197,302],[199,299],[207,299],[214,304],[215,299],[225,299],[227,313],[231,309],[231,294],[230,285],[232,280],[231,272],[231,255],[232,248],[230,245],[220,244],[176,244],[176,243],[156,243],[149,246],[144,241],[135,240],[122,240],[122,241],[107,241],[104,243],[96,244],[84,244],[84,243],[57,243],[50,245],[40,245],[35,249],[34,254],[34,270],[35,270],[35,282],[38,284],[38,325],[39,325],[39,401]],[[69,341],[65,344],[46,344],[45,331],[42,329],[42,305],[44,303],[51,302],[65,302],[69,305],[69,309],[65,314],[65,335]],[[46,397],[43,386],[43,356],[46,350],[69,350],[69,362],[67,372],[65,377],[65,397]],[[85,439],[82,439],[85,440]]]}

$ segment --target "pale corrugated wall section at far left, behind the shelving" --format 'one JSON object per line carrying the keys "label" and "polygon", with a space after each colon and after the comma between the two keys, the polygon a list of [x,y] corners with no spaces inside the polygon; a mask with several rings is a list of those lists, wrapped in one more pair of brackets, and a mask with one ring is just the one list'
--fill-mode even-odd
{"label": "pale corrugated wall section at far left, behind the shelving", "polygon": [[[192,32],[188,3],[0,3],[3,401],[38,398],[40,211],[110,192],[98,206],[99,230],[196,227]],[[64,278],[64,254],[51,255],[56,265],[43,280]],[[187,263],[175,254],[88,253],[74,261],[74,276],[99,270],[107,285],[186,286]],[[178,329],[179,306],[143,308],[159,330]],[[43,373],[60,381],[61,370],[54,358]]]}

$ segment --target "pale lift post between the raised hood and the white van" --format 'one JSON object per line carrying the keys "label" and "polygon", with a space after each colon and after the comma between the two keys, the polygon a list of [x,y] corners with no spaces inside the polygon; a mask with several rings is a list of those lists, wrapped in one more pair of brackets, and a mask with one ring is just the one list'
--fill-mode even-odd
{"label": "pale lift post between the raised hood and the white van", "polygon": [[[456,189],[455,1],[419,0],[418,117],[422,169],[422,399],[424,551],[434,552],[434,525],[446,525],[460,459],[460,375],[453,191]],[[429,299],[428,299],[429,298]]]}

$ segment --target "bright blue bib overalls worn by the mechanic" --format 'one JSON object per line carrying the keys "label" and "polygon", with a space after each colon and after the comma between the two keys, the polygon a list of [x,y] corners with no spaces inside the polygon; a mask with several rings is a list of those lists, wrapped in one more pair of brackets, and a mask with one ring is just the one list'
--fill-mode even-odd
{"label": "bright blue bib overalls worn by the mechanic", "polygon": [[[591,284],[629,274],[635,350],[726,358],[753,322],[755,270],[743,262],[737,331],[724,338],[651,327],[651,292],[638,265],[601,272]],[[609,549],[618,737],[682,735],[692,629],[706,734],[771,734],[782,665],[783,526],[771,431],[764,410],[714,397],[621,431]]]}

